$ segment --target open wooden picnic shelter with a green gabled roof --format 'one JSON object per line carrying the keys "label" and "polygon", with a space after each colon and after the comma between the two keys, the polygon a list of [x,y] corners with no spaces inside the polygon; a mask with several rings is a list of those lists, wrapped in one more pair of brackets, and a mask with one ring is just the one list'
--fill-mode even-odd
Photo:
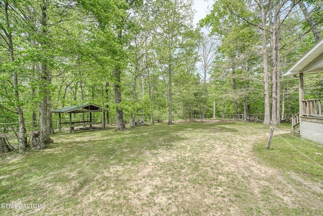
{"label": "open wooden picnic shelter with a green gabled roof", "polygon": [[[90,128],[92,125],[95,124],[100,124],[100,123],[95,123],[92,122],[92,113],[102,113],[102,129],[105,128],[105,111],[101,109],[100,106],[94,105],[94,104],[86,104],[86,105],[74,105],[74,106],[66,106],[61,109],[51,111],[52,113],[58,113],[59,114],[59,124],[58,128],[61,131],[61,126],[63,124],[70,124],[70,133],[72,133],[72,130],[74,130],[74,124],[76,123],[82,123],[83,126],[89,125]],[[90,119],[89,121],[73,121],[72,122],[72,114],[75,113],[89,113],[90,114]],[[70,121],[69,122],[62,122],[61,119],[61,114],[70,114]]]}

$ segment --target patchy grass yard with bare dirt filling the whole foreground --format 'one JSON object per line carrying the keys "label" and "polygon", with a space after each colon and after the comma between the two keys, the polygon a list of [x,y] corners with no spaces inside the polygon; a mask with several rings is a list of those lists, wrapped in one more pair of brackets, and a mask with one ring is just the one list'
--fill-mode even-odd
{"label": "patchy grass yard with bare dirt filling the whole foreground", "polygon": [[0,155],[0,204],[45,204],[0,215],[323,215],[323,168],[283,139],[322,166],[323,148],[289,130],[270,150],[261,124],[56,134],[47,149]]}

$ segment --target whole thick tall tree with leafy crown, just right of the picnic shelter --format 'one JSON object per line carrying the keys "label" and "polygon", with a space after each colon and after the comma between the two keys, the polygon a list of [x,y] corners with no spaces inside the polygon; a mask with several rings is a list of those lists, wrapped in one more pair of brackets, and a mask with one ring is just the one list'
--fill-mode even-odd
{"label": "whole thick tall tree with leafy crown, just right of the picnic shelter", "polygon": [[100,29],[110,35],[111,41],[106,41],[106,43],[111,44],[109,58],[111,58],[111,63],[115,66],[113,70],[113,82],[115,87],[117,130],[126,130],[123,120],[121,77],[122,68],[125,67],[123,63],[127,56],[126,47],[129,45],[126,34],[129,18],[127,11],[130,7],[134,7],[137,3],[139,4],[140,1],[79,0],[78,2],[96,18]]}

